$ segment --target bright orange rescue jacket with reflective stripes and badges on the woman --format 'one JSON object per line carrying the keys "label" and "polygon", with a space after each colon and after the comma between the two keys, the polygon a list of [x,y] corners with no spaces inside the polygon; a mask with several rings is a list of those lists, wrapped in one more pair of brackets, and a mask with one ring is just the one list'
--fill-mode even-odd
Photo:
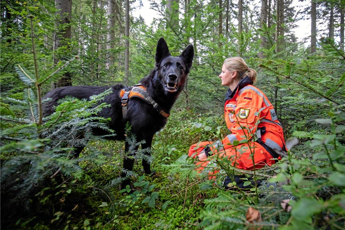
{"label": "bright orange rescue jacket with reflective stripes and badges on the woman", "polygon": [[266,129],[264,133],[261,132],[261,140],[266,146],[285,151],[282,124],[266,95],[252,84],[252,80],[246,76],[233,92],[228,90],[224,113],[231,133],[221,141],[222,146],[219,146],[219,141],[210,146],[211,154],[233,147],[234,141],[253,139],[257,129]]}

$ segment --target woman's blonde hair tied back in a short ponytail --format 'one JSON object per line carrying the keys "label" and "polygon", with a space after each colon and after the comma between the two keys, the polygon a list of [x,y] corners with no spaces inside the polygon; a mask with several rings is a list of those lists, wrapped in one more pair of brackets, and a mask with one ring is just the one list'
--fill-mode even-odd
{"label": "woman's blonde hair tied back in a short ponytail", "polygon": [[226,69],[229,71],[236,71],[239,79],[243,79],[247,75],[249,78],[255,82],[256,81],[256,71],[254,69],[250,69],[246,62],[241,57],[231,57],[224,60],[224,64]]}

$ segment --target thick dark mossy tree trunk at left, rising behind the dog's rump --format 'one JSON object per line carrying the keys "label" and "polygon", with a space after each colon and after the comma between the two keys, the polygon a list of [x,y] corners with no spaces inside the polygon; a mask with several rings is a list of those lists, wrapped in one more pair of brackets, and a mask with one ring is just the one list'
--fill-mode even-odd
{"label": "thick dark mossy tree trunk at left, rising behind the dog's rump", "polygon": [[[72,12],[72,0],[55,0],[56,9],[59,10],[57,12],[56,21],[56,32],[54,38],[54,48],[57,50],[59,47],[67,46],[68,41],[71,40],[71,12]],[[68,49],[68,48],[67,48]],[[54,57],[54,63],[57,64],[61,57],[58,52]],[[66,50],[66,53],[69,53],[69,50]],[[67,54],[68,55],[68,54]],[[63,76],[55,83],[55,87],[62,87],[62,86],[71,86],[72,79],[71,73],[66,72]]]}

